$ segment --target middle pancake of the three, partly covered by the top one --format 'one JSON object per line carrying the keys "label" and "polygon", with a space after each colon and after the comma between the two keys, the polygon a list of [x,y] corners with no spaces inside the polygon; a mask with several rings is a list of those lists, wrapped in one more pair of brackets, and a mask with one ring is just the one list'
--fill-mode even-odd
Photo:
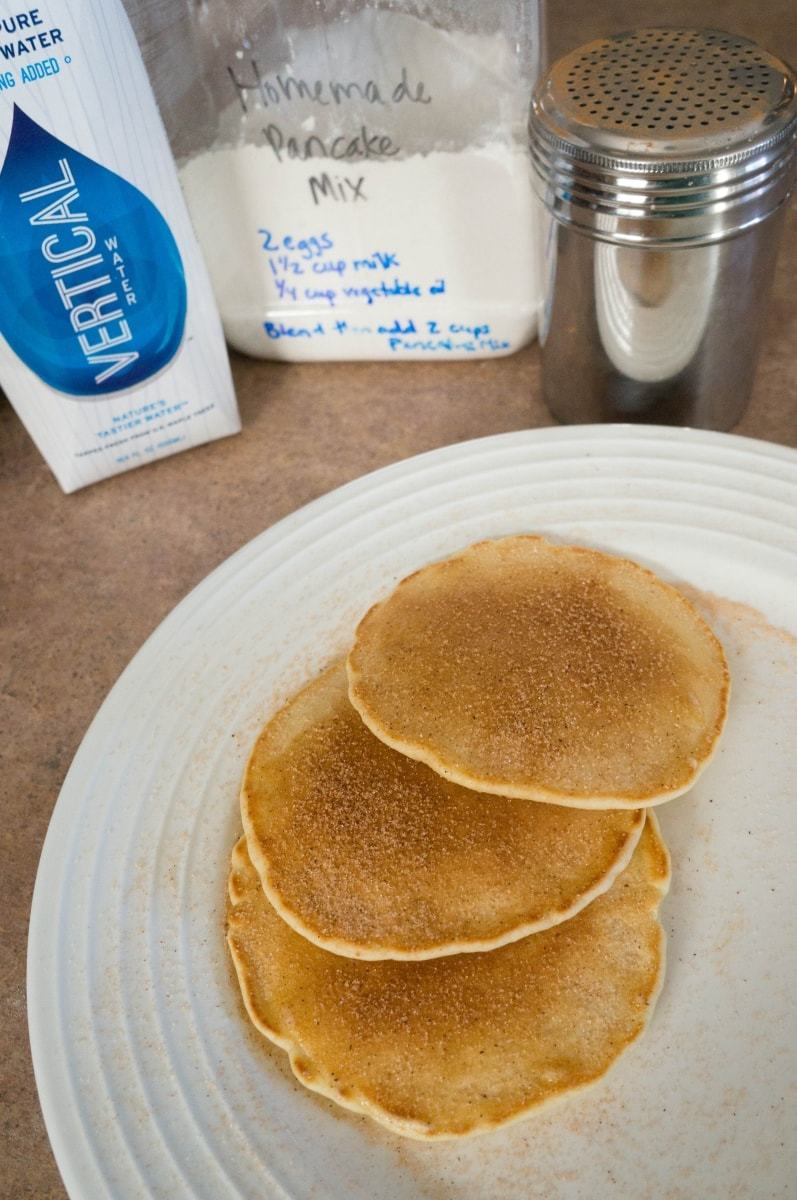
{"label": "middle pancake of the three, partly covered by the top one", "polygon": [[362,959],[485,950],[565,920],[610,887],[645,823],[641,809],[585,812],[449,782],[374,738],[343,662],[260,733],[241,816],[280,916]]}

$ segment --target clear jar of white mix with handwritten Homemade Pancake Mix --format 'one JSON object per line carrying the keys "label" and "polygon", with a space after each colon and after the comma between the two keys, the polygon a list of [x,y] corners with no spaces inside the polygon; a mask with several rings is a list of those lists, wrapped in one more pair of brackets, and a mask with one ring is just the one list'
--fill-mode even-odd
{"label": "clear jar of white mix with handwritten Homemade Pancake Mix", "polygon": [[228,342],[485,358],[537,328],[537,0],[127,0]]}

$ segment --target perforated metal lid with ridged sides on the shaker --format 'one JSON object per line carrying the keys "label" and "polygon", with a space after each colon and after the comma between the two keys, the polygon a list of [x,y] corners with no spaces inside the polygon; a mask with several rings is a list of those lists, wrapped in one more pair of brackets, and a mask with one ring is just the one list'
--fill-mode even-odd
{"label": "perforated metal lid with ridged sides on the shaker", "polygon": [[730,236],[789,194],[795,85],[779,59],[720,30],[588,42],[534,96],[538,191],[559,220],[610,241]]}

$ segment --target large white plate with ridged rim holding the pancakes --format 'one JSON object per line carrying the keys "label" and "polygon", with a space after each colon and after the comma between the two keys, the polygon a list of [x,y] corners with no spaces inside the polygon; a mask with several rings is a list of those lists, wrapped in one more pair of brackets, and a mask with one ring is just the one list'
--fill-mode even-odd
{"label": "large white plate with ridged rim holding the pancakes", "polygon": [[[247,1027],[223,942],[238,785],[264,718],[414,568],[544,530],[705,601],[733,671],[720,752],[660,809],[669,971],[651,1028],[591,1092],[423,1145],[293,1081]],[[786,1196],[795,1162],[797,455],[678,430],[489,438],[360,479],[180,604],[64,785],[30,926],[29,1014],[73,1200]]]}

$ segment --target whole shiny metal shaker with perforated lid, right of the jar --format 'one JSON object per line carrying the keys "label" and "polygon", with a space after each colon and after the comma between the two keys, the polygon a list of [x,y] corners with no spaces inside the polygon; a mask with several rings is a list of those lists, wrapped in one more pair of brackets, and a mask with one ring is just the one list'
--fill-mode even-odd
{"label": "whole shiny metal shaker with perforated lid, right of the jar", "polygon": [[795,82],[711,29],[599,38],[541,82],[540,346],[559,420],[739,420],[791,187]]}

